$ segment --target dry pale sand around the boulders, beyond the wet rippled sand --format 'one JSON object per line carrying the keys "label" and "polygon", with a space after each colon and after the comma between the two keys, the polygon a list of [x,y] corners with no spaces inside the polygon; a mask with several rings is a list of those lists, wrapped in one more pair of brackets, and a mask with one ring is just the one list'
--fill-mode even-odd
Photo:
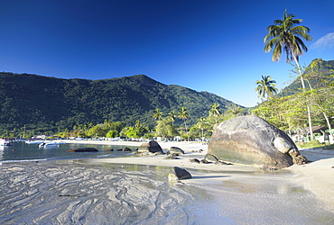
{"label": "dry pale sand around the boulders, beyond the wet rippled sand", "polygon": [[[139,147],[144,142],[137,141],[96,141],[96,140],[67,140],[67,143],[78,144],[97,144],[97,145],[121,145]],[[191,169],[193,178],[182,180],[183,184],[199,184],[206,183],[218,184],[224,181],[221,177],[222,173],[260,173],[258,166],[231,165],[222,166],[214,164],[195,164],[190,163],[190,158],[204,158],[208,151],[208,145],[200,142],[158,142],[163,148],[178,147],[185,154],[180,159],[163,159],[165,156],[144,156],[144,157],[117,157],[117,158],[100,158],[89,159],[89,162],[97,164],[133,164],[133,165],[149,165],[149,166],[180,166],[182,168]],[[202,149],[202,152],[197,152]],[[302,185],[306,190],[314,193],[321,202],[325,202],[329,211],[334,213],[334,150],[330,149],[300,149],[303,156],[310,161],[302,166],[289,166],[279,170],[279,173],[291,173],[288,180],[298,185]],[[332,167],[333,166],[333,167]],[[195,170],[195,171],[193,171]],[[203,172],[202,170],[206,170]],[[269,173],[270,172],[263,172]],[[275,172],[273,173],[275,174]],[[234,175],[234,176],[237,176]],[[200,179],[197,177],[201,177]]]}

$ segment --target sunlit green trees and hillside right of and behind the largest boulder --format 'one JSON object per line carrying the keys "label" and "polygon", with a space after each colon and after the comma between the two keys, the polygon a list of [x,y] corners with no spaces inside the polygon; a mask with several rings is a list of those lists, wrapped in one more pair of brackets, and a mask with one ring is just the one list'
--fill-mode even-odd
{"label": "sunlit green trees and hillside right of and behind the largest boulder", "polygon": [[257,105],[253,114],[264,118],[274,126],[289,133],[300,131],[306,135],[308,116],[306,105],[311,111],[312,127],[326,126],[332,132],[334,119],[334,60],[320,58],[311,61],[303,69],[306,90],[302,91],[297,76],[278,94]]}

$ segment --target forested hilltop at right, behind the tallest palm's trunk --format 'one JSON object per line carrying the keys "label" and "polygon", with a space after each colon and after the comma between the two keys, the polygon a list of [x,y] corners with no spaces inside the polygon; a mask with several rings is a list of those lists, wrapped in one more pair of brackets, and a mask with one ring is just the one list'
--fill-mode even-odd
{"label": "forested hilltop at right, behind the tallest palm's trunk", "polygon": [[[328,78],[329,75],[332,75],[334,71],[334,60],[325,61],[320,58],[316,58],[311,61],[309,67],[305,69],[304,72],[304,79],[306,88],[311,87],[318,88],[319,85],[323,84],[323,79]],[[279,97],[289,96],[292,94],[300,93],[302,90],[301,79],[296,78],[292,81],[290,85],[285,86],[280,93],[278,94]]]}

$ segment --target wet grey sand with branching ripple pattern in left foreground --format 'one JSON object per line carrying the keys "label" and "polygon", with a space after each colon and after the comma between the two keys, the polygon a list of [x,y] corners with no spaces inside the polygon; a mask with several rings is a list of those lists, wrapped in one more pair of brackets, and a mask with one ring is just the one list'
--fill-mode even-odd
{"label": "wet grey sand with branching ripple pattern in left foreground", "polygon": [[2,165],[0,223],[198,223],[202,206],[196,198],[204,193],[170,185],[167,170],[61,162]]}

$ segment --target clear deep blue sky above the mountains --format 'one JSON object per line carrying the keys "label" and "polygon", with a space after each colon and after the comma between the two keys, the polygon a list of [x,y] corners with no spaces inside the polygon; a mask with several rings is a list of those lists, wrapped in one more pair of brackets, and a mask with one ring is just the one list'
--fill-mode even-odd
{"label": "clear deep blue sky above the mountains", "polygon": [[334,1],[2,0],[0,71],[105,79],[144,74],[254,106],[255,81],[292,79],[264,53],[266,27],[283,12],[311,29],[312,59],[334,59]]}

